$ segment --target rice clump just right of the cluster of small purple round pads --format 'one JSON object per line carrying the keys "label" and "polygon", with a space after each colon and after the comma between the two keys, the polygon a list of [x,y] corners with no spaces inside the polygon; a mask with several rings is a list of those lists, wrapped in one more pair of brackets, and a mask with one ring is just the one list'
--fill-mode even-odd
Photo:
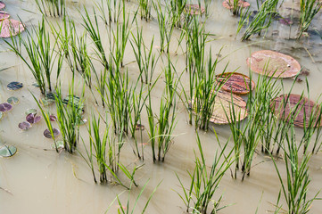
{"label": "rice clump just right of the cluster of small purple round pads", "polygon": [[[84,93],[84,86],[83,86]],[[74,78],[71,81],[69,89],[69,101],[66,103],[62,100],[61,86],[56,88],[54,95],[57,111],[57,123],[62,132],[62,141],[67,152],[74,152],[78,144],[79,121],[83,108],[83,100],[76,100],[74,95]]]}

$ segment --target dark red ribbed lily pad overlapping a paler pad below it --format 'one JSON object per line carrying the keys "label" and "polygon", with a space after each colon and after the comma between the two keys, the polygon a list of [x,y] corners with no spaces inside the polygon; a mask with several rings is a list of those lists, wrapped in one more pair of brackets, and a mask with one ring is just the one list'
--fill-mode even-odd
{"label": "dark red ribbed lily pad overlapping a paler pad below it", "polygon": [[[250,92],[249,86],[251,79],[241,73],[223,73],[217,76],[219,82],[225,82],[221,89],[232,92],[236,95],[245,95]],[[252,81],[252,90],[255,88],[255,83]]]}

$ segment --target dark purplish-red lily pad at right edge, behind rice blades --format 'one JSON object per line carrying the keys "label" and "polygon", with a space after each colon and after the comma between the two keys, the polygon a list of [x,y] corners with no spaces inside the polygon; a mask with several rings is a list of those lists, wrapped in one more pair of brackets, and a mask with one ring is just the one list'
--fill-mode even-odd
{"label": "dark purplish-red lily pad at right edge, behind rice blades", "polygon": [[280,95],[271,101],[270,106],[278,119],[289,121],[290,115],[294,114],[294,125],[301,128],[304,127],[304,119],[308,127],[311,114],[315,115],[314,119],[318,119],[320,113],[316,103],[301,95]]}

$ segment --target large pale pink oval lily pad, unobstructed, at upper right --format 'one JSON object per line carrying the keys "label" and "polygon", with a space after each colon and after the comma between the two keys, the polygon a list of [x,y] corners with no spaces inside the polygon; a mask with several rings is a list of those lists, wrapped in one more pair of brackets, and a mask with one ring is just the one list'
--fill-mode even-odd
{"label": "large pale pink oval lily pad, unobstructed, at upper right", "polygon": [[252,71],[273,78],[292,78],[301,70],[293,57],[269,50],[252,53],[246,62]]}

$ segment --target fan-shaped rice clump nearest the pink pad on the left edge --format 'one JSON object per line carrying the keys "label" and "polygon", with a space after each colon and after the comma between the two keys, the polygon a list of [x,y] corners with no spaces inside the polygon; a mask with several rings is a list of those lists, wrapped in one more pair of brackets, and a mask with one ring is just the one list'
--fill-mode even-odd
{"label": "fan-shaped rice clump nearest the pink pad on the left edge", "polygon": [[[18,42],[5,41],[7,45],[10,46],[12,52],[16,53],[21,60],[29,67],[34,78],[36,79],[37,86],[39,86],[40,92],[45,95],[49,89],[49,92],[52,91],[52,78],[51,74],[56,68],[57,78],[62,70],[62,54],[56,53],[54,50],[57,42],[54,45],[50,43],[49,33],[45,29],[45,19],[43,17],[42,21],[39,23],[37,29],[33,29],[36,39],[32,38],[32,32],[27,30],[28,37],[23,39],[21,36],[18,36],[19,44],[22,44],[26,50],[30,62],[27,60],[27,57],[23,56],[21,53],[21,48],[17,46]],[[13,38],[12,38],[13,41]],[[58,59],[57,59],[58,57]]]}

